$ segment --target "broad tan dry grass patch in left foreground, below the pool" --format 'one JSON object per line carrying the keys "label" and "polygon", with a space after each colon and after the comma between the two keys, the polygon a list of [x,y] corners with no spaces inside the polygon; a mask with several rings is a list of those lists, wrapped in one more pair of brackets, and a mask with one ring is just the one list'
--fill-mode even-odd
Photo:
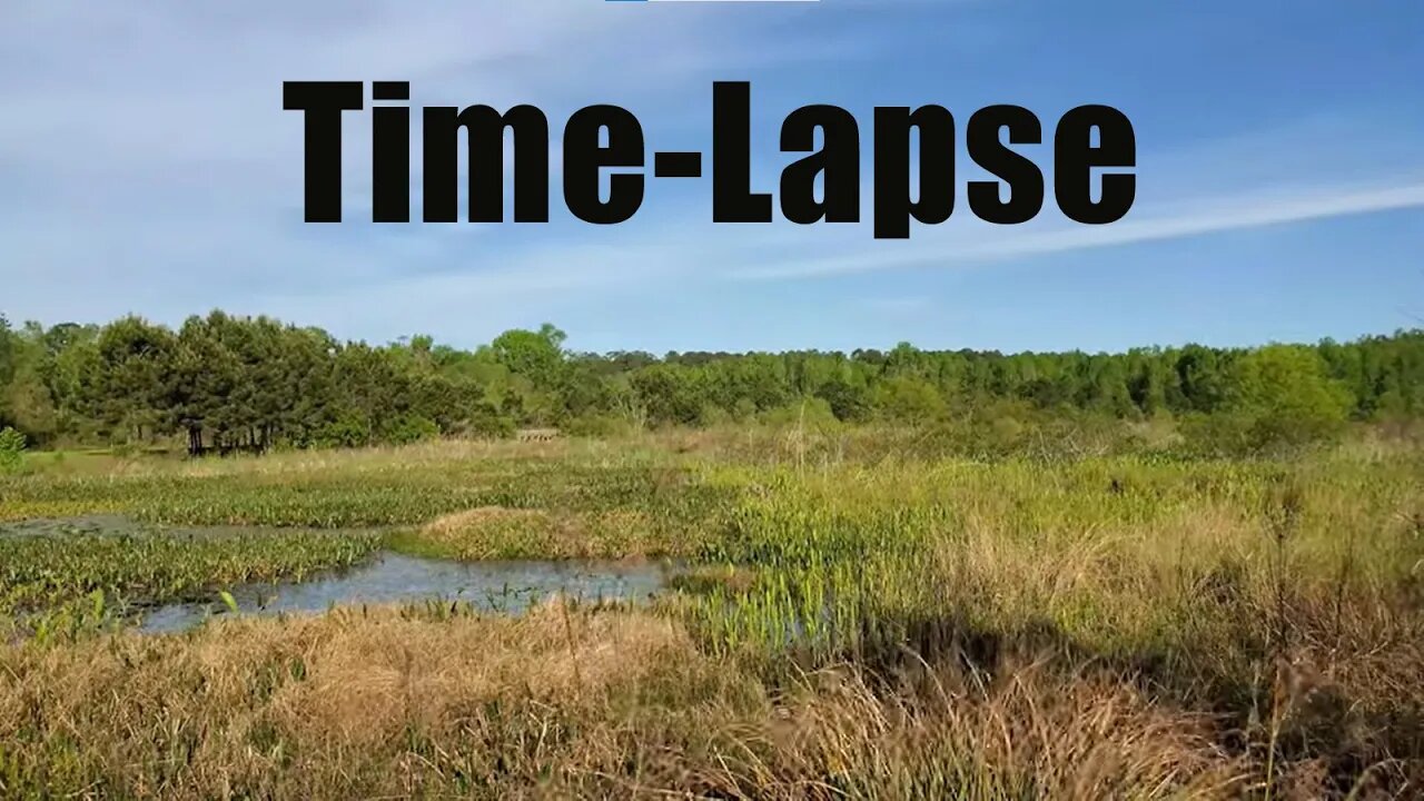
{"label": "broad tan dry grass patch in left foreground, below the pool", "polygon": [[[709,676],[645,616],[430,620],[393,610],[238,620],[0,656],[0,797],[350,798],[461,781],[537,788],[612,760],[608,708],[659,671]],[[6,760],[0,760],[4,764]],[[464,777],[463,780],[457,777]],[[9,785],[7,785],[9,782]]]}

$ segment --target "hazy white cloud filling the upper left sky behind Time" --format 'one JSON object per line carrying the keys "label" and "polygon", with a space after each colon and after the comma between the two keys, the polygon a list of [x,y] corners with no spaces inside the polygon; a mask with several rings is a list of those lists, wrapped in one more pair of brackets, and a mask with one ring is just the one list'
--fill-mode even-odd
{"label": "hazy white cloud filling the upper left sky behind Time", "polygon": [[[11,0],[3,16],[0,305],[46,321],[177,319],[266,296],[320,304],[430,262],[474,261],[451,251],[468,237],[439,234],[488,227],[380,242],[360,224],[303,227],[302,118],[282,110],[283,80],[410,80],[413,104],[537,103],[557,180],[555,105],[651,105],[712,64],[786,57],[715,7],[598,0]],[[641,70],[628,68],[634,51]],[[343,158],[355,221],[369,208],[370,158],[355,115]],[[413,201],[419,214],[419,191]],[[561,271],[528,281],[557,284]]]}

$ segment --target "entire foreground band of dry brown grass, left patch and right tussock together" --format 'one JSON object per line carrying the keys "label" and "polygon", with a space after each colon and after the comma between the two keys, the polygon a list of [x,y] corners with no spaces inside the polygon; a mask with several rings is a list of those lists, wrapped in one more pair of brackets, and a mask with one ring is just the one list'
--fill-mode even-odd
{"label": "entire foreground band of dry brown grass, left patch and right tussock together", "polygon": [[0,654],[0,797],[1223,798],[1126,677],[953,661],[778,690],[632,611],[340,610]]}

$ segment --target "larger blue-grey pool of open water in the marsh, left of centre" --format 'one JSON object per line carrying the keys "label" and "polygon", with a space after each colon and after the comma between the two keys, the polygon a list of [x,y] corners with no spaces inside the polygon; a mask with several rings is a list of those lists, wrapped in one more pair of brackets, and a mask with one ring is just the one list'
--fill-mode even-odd
{"label": "larger blue-grey pool of open water in the marsh, left of centre", "polygon": [[[656,563],[612,562],[446,562],[382,553],[373,562],[308,582],[231,587],[241,614],[319,613],[333,604],[441,600],[518,614],[555,593],[597,600],[645,601],[668,579]],[[142,614],[141,631],[191,629],[228,613],[209,601],[169,603]]]}

